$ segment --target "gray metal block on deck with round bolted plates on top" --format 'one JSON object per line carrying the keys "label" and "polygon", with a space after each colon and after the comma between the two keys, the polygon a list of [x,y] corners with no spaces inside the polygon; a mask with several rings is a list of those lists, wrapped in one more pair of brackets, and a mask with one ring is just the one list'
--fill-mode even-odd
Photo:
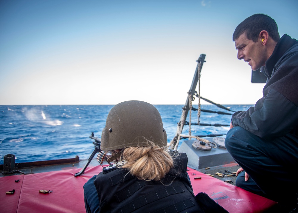
{"label": "gray metal block on deck with round bolted plates on top", "polygon": [[[212,141],[212,138],[205,138]],[[188,157],[188,166],[192,169],[202,169],[211,166],[219,166],[228,163],[235,163],[229,152],[224,148],[212,148],[210,151],[201,151],[193,148],[195,140],[182,142],[179,152],[185,152]]]}

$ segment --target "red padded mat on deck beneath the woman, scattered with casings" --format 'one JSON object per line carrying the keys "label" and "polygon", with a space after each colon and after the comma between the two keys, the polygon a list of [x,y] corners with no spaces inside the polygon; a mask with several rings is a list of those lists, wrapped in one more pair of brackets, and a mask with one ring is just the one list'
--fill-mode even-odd
{"label": "red padded mat on deck beneath the woman, scattered with casings", "polygon": [[[13,175],[0,178],[1,212],[86,212],[83,185],[93,175],[102,171],[102,166],[88,167],[85,173],[75,177],[81,169],[69,169],[30,175]],[[196,170],[188,171],[194,194],[207,193],[228,212],[263,212],[275,202],[247,192],[224,181],[212,178]],[[192,175],[192,173],[196,175]],[[194,179],[194,177],[202,177]],[[18,183],[15,180],[20,179]],[[14,195],[5,192],[15,189]],[[42,194],[38,191],[53,190]]]}

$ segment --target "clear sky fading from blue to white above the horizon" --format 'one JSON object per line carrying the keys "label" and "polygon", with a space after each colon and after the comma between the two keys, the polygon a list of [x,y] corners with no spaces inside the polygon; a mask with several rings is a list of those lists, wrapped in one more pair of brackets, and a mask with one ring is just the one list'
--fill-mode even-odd
{"label": "clear sky fading from blue to white above the horizon", "polygon": [[[265,13],[298,39],[298,1],[0,1],[0,105],[254,104],[264,84],[237,59],[235,27]],[[202,102],[204,104],[204,102]]]}

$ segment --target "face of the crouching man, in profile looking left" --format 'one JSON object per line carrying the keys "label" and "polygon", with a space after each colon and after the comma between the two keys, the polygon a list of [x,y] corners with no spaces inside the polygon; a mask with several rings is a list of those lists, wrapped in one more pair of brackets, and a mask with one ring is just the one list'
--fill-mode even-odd
{"label": "face of the crouching man, in profile looking left", "polygon": [[235,39],[235,47],[238,50],[237,58],[248,62],[252,70],[257,70],[265,65],[266,53],[260,41],[254,42],[246,38],[245,33]]}

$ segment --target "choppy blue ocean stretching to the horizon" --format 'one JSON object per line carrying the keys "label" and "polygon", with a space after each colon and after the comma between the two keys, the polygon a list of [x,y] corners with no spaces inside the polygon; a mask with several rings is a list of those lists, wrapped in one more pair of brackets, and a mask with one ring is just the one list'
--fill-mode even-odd
{"label": "choppy blue ocean stretching to the horizon", "polygon": [[[251,106],[224,105],[232,111],[246,110]],[[94,150],[93,140],[89,136],[94,132],[95,137],[101,137],[112,107],[113,105],[0,106],[0,164],[3,164],[3,156],[7,154],[15,155],[15,163],[75,158],[76,155],[80,159],[88,159]],[[183,105],[155,107],[162,116],[170,143],[176,134]],[[215,105],[201,105],[201,109],[233,113]],[[192,135],[225,135],[230,121],[231,115],[201,112],[200,123],[228,126],[192,125]],[[196,111],[192,111],[191,123],[197,123]],[[189,126],[184,126],[182,133],[188,134],[188,129]]]}

